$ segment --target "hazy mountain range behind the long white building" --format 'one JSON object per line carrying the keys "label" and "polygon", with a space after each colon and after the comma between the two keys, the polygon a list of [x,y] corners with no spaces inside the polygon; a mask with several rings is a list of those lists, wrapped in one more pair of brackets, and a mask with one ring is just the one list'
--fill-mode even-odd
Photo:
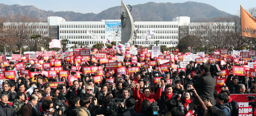
{"label": "hazy mountain range behind the long white building", "polygon": [[[126,3],[128,4],[128,3]],[[128,6],[128,9],[130,7]],[[18,4],[6,5],[0,4],[0,16],[7,14],[21,14],[39,18],[46,21],[48,16],[60,16],[66,21],[101,21],[101,20],[118,20],[120,19],[120,6],[115,6],[103,10],[98,14],[72,11],[54,12],[36,8],[35,6],[20,6]],[[178,16],[189,16],[190,21],[214,18],[216,16],[233,16],[224,11],[218,10],[214,6],[200,2],[184,3],[155,3],[147,2],[132,6],[132,17],[135,21],[172,21]]]}

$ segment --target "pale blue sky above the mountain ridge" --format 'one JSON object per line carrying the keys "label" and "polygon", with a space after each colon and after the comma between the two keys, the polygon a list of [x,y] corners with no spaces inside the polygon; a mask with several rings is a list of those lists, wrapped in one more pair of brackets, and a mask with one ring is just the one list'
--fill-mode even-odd
{"label": "pale blue sky above the mountain ridge", "polygon": [[[124,4],[136,5],[147,2],[171,2],[183,3],[188,0],[123,0]],[[229,14],[237,14],[240,5],[244,9],[256,7],[255,0],[193,0],[193,2],[202,2],[214,6]],[[120,6],[121,0],[0,0],[2,4],[19,4],[22,6],[33,5],[41,10],[57,11],[74,11],[80,13],[100,13],[103,10],[114,6]]]}

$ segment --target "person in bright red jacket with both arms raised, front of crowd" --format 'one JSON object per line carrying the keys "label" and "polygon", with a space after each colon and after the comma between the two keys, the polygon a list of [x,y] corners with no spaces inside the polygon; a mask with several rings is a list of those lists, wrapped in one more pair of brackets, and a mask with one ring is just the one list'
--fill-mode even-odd
{"label": "person in bright red jacket with both arms raised, front of crowd", "polygon": [[132,87],[133,87],[133,91],[134,91],[133,97],[135,99],[140,100],[140,106],[139,106],[139,110],[137,113],[140,113],[141,104],[142,104],[143,100],[149,100],[152,103],[153,101],[156,101],[161,96],[161,82],[160,81],[158,81],[158,83],[156,84],[156,87],[158,87],[156,94],[151,94],[150,88],[148,88],[148,87],[143,88],[143,91],[142,91],[143,93],[140,94],[139,89],[138,89],[139,88],[138,84],[135,85],[134,83],[132,83]]}

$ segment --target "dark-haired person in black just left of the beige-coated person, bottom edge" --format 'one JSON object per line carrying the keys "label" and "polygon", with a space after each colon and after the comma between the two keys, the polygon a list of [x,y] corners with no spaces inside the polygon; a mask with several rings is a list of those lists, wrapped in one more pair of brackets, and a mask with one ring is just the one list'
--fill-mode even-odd
{"label": "dark-haired person in black just left of the beige-coated person, bottom edge", "polygon": [[70,105],[68,106],[68,109],[65,112],[66,116],[76,116],[80,107],[79,101],[80,101],[79,96],[70,97]]}

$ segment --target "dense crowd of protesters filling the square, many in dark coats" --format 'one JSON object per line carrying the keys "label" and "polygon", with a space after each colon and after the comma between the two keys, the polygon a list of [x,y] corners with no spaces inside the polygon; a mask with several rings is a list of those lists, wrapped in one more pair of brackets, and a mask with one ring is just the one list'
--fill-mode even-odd
{"label": "dense crowd of protesters filling the square, many in dark coats", "polygon": [[[106,50],[96,53],[106,53]],[[190,61],[184,71],[186,74],[180,75],[172,66],[168,67],[168,71],[160,71],[156,68],[162,65],[160,62],[145,69],[140,62],[148,64],[155,59],[140,61],[142,53],[130,57],[126,57],[128,52],[126,56],[118,52],[113,55],[124,56],[124,60],[120,61],[121,67],[139,68],[134,73],[126,71],[122,75],[114,69],[107,69],[105,63],[99,62],[96,54],[91,54],[90,60],[85,63],[56,59],[61,61],[62,70],[68,71],[68,77],[61,77],[60,74],[47,77],[42,71],[49,69],[35,69],[33,64],[27,63],[24,69],[39,72],[31,78],[31,75],[25,76],[20,70],[16,70],[13,62],[8,65],[0,63],[0,69],[16,71],[18,74],[13,80],[3,78],[0,88],[0,116],[184,116],[187,113],[193,116],[238,116],[238,103],[232,100],[230,94],[256,93],[255,77],[233,75],[232,69],[228,68],[247,64],[231,61],[221,65],[220,61],[216,61],[221,70],[227,69],[226,77],[212,75],[209,62],[196,64]],[[126,65],[134,57],[137,64]],[[55,56],[52,58],[55,59]],[[28,59],[28,62],[30,60],[33,59]],[[180,68],[180,60],[167,60]],[[50,62],[44,60],[44,63]],[[76,71],[71,70],[72,66],[77,67]],[[86,73],[83,71],[84,67],[101,67],[103,75],[100,75],[100,82],[95,83],[94,77],[98,75]],[[80,77],[69,82],[70,77],[78,76],[76,72],[81,73]],[[192,75],[193,72],[196,75]],[[110,75],[106,75],[107,73]],[[157,81],[157,77],[160,80]],[[114,82],[108,82],[107,79],[114,79]],[[168,79],[172,79],[171,83],[167,83]],[[216,89],[216,79],[225,79],[225,84],[219,89]],[[51,83],[55,82],[63,83],[52,87]],[[33,91],[27,91],[30,88]],[[151,112],[153,102],[159,106],[157,114]]]}

